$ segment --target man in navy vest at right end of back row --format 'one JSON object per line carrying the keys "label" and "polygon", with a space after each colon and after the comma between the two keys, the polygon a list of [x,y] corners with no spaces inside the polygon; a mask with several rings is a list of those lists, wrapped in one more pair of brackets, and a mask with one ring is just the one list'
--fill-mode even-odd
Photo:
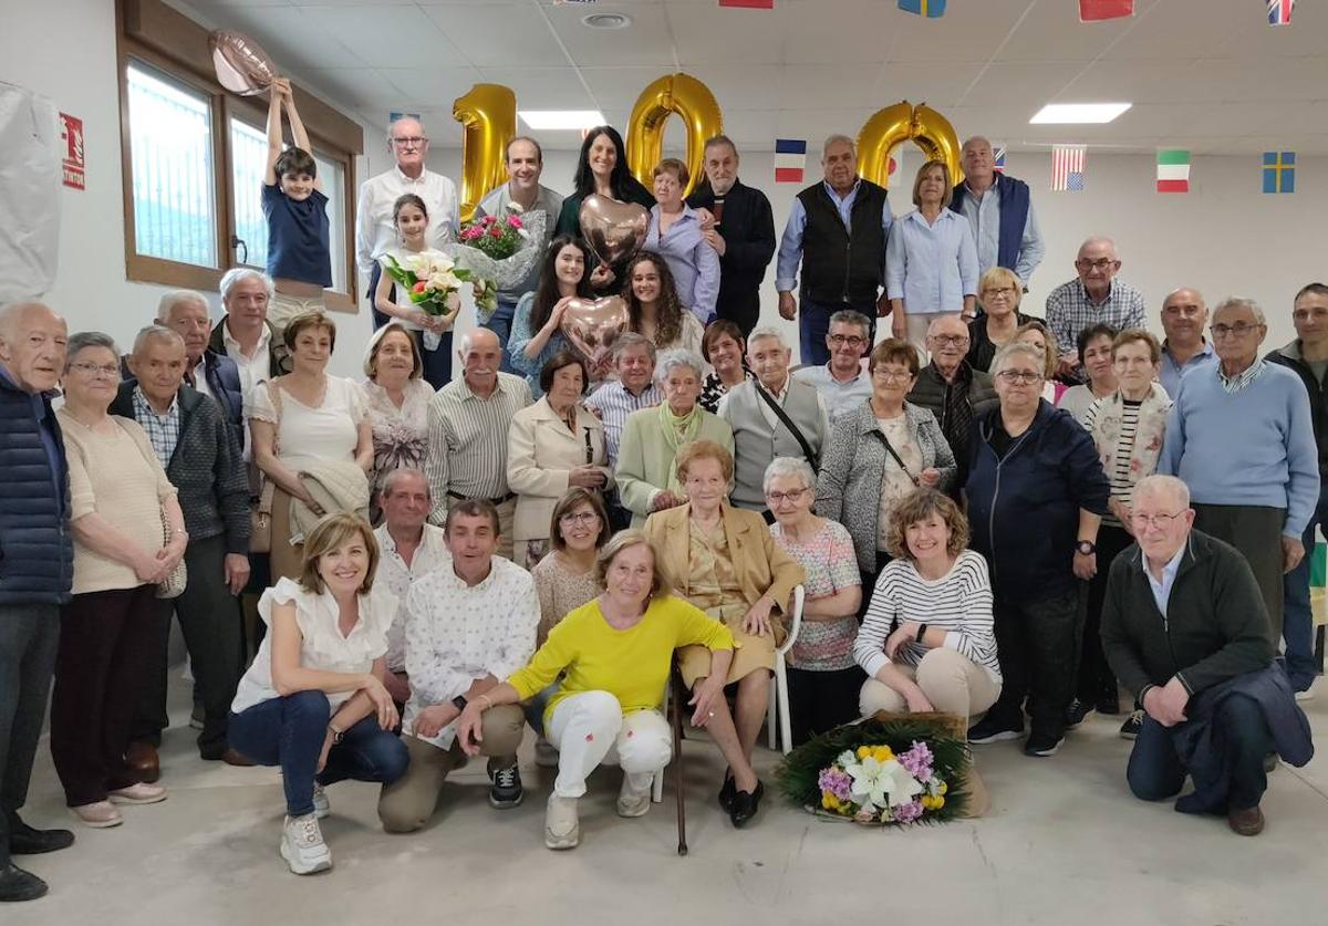
{"label": "man in navy vest at right end of back row", "polygon": [[1046,253],[1028,184],[996,172],[992,143],[981,135],[964,142],[959,161],[964,182],[955,184],[950,208],[968,219],[973,230],[979,272],[1004,267],[1015,271],[1027,288]]}

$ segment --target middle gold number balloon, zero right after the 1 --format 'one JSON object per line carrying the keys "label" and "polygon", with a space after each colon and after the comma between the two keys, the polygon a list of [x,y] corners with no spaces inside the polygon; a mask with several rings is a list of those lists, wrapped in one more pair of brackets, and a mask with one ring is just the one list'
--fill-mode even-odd
{"label": "middle gold number balloon, zero right after the 1", "polygon": [[665,74],[641,90],[627,123],[627,167],[647,188],[664,153],[664,122],[677,114],[687,126],[687,171],[692,175],[683,195],[701,179],[705,139],[724,131],[720,105],[710,88],[691,74]]}

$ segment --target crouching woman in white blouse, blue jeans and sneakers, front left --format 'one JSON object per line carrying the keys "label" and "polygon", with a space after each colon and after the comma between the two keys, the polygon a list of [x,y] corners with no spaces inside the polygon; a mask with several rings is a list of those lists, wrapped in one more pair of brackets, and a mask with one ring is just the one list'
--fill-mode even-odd
{"label": "crouching woman in white blouse, blue jeans and sneakers, front left", "polygon": [[268,633],[231,704],[231,746],[260,765],[282,767],[282,857],[296,874],[332,868],[319,829],[331,813],[323,785],[390,784],[409,761],[392,734],[397,708],[382,686],[396,600],[369,594],[377,564],[367,521],[320,521],[304,541],[300,581],[282,578],[259,600]]}

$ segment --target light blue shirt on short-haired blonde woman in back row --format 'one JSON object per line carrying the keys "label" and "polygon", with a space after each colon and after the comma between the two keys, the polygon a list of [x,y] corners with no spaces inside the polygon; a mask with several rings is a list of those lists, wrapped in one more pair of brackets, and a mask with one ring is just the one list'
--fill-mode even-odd
{"label": "light blue shirt on short-haired blonde woman in back row", "polygon": [[977,295],[977,248],[968,222],[947,208],[934,224],[914,210],[890,230],[886,293],[908,314],[960,312]]}

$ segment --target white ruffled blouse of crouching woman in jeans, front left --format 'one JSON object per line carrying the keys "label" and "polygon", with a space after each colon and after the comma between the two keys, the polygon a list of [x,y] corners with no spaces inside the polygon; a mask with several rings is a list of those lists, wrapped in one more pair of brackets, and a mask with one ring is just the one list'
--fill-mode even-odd
{"label": "white ruffled blouse of crouching woman in jeans, front left", "polygon": [[[361,594],[360,620],[345,637],[337,626],[340,609],[332,593],[309,592],[293,578],[282,578],[264,592],[258,602],[258,614],[271,628],[272,605],[290,604],[295,605],[295,622],[300,628],[300,666],[304,669],[363,675],[373,669],[374,659],[388,651],[388,630],[397,612],[397,600],[392,594],[377,589],[372,594]],[[336,711],[353,694],[329,694],[328,703]],[[278,696],[272,685],[272,633],[268,630],[258,655],[235,689],[231,711],[240,714]]]}

